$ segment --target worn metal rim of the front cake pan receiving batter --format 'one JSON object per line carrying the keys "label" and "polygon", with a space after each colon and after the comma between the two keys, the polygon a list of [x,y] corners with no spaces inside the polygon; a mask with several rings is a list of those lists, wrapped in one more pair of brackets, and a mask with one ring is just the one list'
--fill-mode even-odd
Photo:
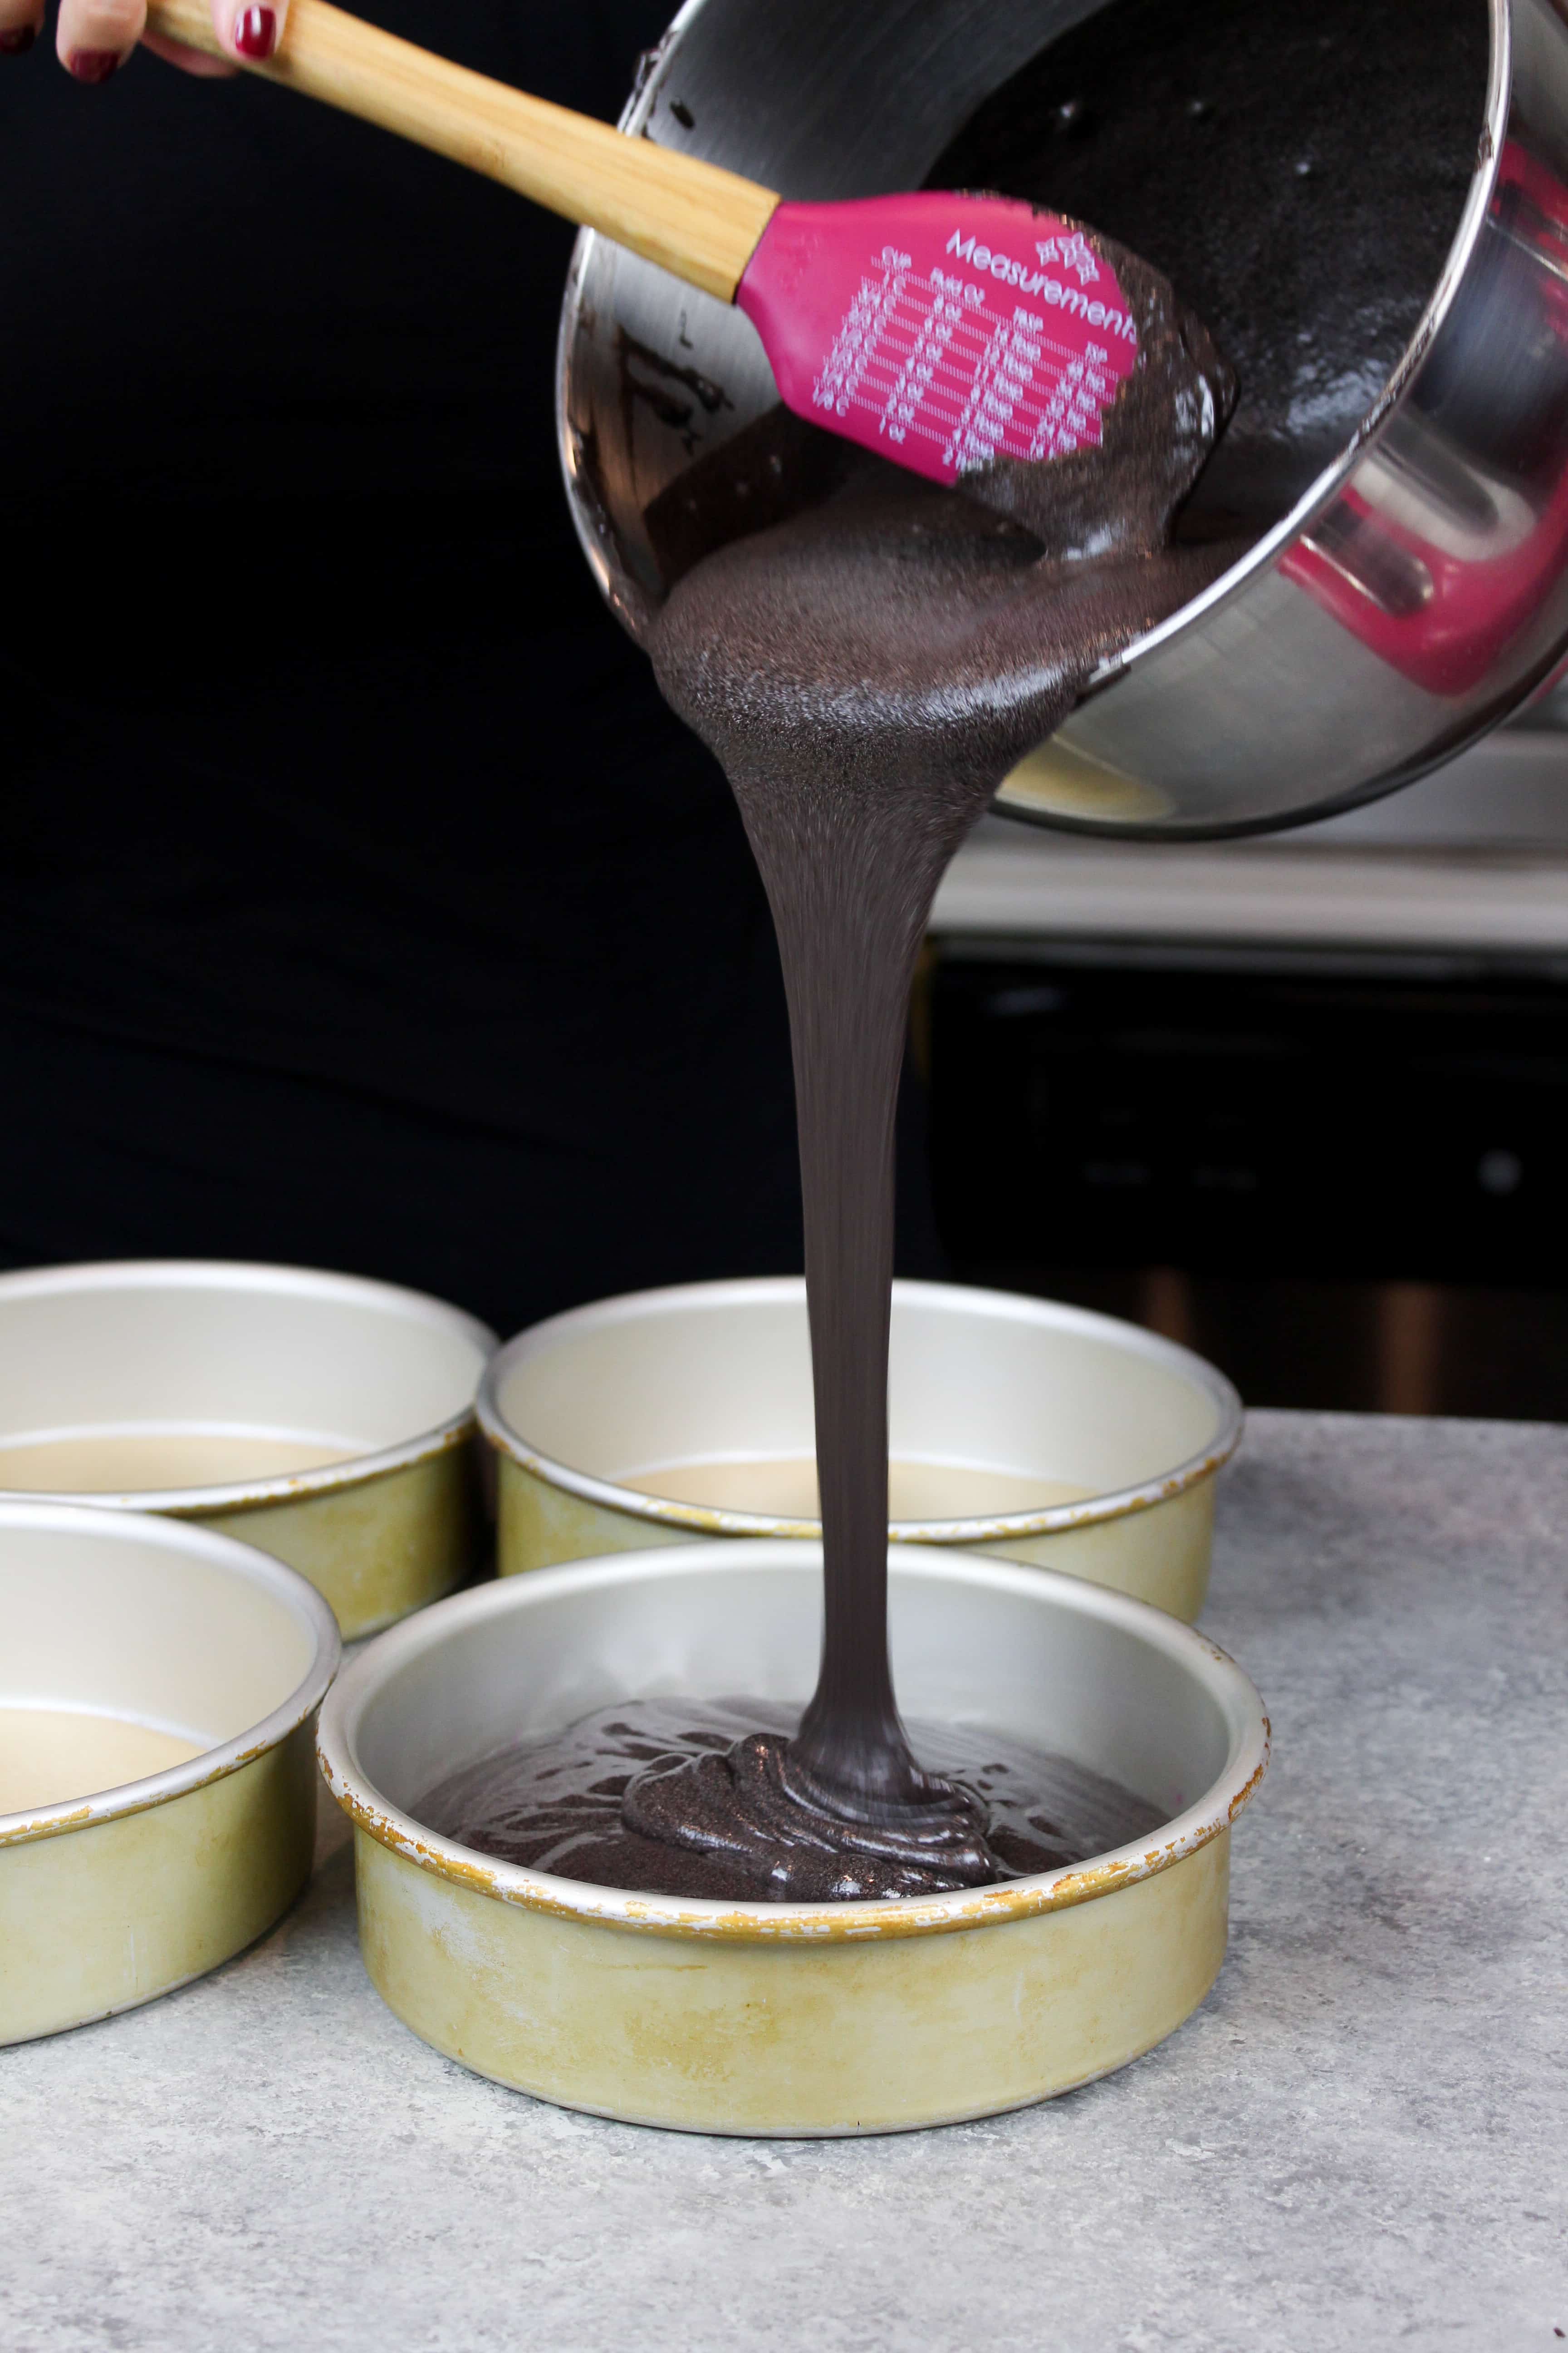
{"label": "worn metal rim of the front cake pan receiving batter", "polygon": [[1173,1821],[1161,1824],[1152,1840],[1117,1847],[1065,1871],[1009,1880],[999,1887],[964,1887],[940,1897],[898,1897],[865,1904],[724,1904],[698,1897],[651,1897],[616,1887],[592,1887],[545,1871],[527,1871],[477,1854],[416,1821],[374,1786],[360,1767],[355,1732],[364,1706],[421,1652],[440,1649],[447,1635],[515,1609],[531,1609],[562,1593],[585,1593],[595,1586],[646,1584],[670,1577],[733,1577],[792,1569],[816,1577],[820,1546],[792,1537],[733,1544],[679,1544],[656,1551],[616,1553],[599,1560],[574,1560],[555,1569],[531,1569],[527,1577],[498,1579],[433,1602],[378,1635],[339,1678],[317,1727],[315,1753],[327,1786],[357,1831],[376,1845],[416,1864],[433,1878],[517,1904],[524,1911],[552,1913],[597,1927],[632,1929],[654,1937],[717,1939],[738,1944],[870,1944],[903,1937],[940,1937],[957,1929],[1001,1927],[1011,1920],[1067,1911],[1114,1894],[1138,1880],[1154,1878],[1220,1838],[1253,1798],[1269,1762],[1269,1720],[1248,1675],[1215,1642],[1192,1626],[1135,1602],[1107,1586],[1091,1586],[1056,1569],[990,1560],[976,1553],[950,1553],[933,1546],[905,1546],[889,1560],[893,1579],[987,1586],[1016,1593],[1041,1607],[1098,1617],[1124,1626],[1154,1649],[1178,1659],[1192,1680],[1215,1701],[1229,1727],[1229,1751],[1218,1779]]}

